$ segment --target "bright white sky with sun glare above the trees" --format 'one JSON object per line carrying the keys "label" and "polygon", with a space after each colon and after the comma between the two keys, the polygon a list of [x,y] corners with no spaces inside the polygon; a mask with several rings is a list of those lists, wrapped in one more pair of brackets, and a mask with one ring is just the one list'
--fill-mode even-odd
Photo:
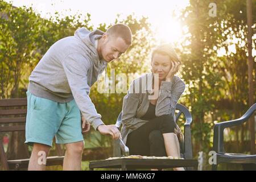
{"label": "bright white sky with sun glare above the trees", "polygon": [[[10,2],[10,0],[5,0]],[[121,17],[134,13],[138,18],[147,16],[156,30],[156,38],[162,42],[176,42],[180,39],[181,28],[179,22],[172,18],[172,12],[180,13],[188,5],[189,0],[12,0],[14,6],[32,6],[38,13],[47,18],[46,13],[52,15],[55,11],[63,14],[91,14],[92,23],[113,23],[117,14]],[[71,11],[65,11],[65,10]]]}

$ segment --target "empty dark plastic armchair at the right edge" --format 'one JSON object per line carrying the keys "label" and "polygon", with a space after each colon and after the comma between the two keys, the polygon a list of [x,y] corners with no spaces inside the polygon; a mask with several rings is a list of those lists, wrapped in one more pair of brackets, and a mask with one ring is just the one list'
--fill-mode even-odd
{"label": "empty dark plastic armchair at the right edge", "polygon": [[224,150],[224,129],[226,127],[241,125],[246,122],[255,110],[256,103],[251,106],[241,118],[217,123],[214,126],[213,151],[216,152],[216,154],[213,155],[213,158],[216,160],[216,163],[212,164],[213,171],[217,170],[218,164],[220,163],[254,164],[255,166],[256,155],[232,154],[226,153]]}

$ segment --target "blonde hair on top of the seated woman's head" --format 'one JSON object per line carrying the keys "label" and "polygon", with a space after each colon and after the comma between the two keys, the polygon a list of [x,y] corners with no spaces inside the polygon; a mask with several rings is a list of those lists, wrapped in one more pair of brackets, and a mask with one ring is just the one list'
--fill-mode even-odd
{"label": "blonde hair on top of the seated woman's head", "polygon": [[159,46],[157,46],[152,52],[151,61],[153,60],[153,57],[156,53],[159,53],[160,55],[167,55],[170,57],[171,61],[180,63],[180,60],[177,57],[174,48],[172,48],[170,44],[160,44]]}

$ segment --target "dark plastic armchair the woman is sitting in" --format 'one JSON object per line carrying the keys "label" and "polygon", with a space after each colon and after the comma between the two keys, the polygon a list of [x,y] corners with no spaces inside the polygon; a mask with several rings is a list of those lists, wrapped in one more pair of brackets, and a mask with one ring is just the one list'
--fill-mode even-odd
{"label": "dark plastic armchair the woman is sitting in", "polygon": [[[192,156],[192,142],[191,142],[191,123],[192,123],[192,115],[187,109],[187,107],[177,104],[176,110],[179,110],[179,112],[175,115],[175,122],[180,118],[181,114],[184,114],[185,117],[185,124],[184,124],[184,143],[180,143],[181,145],[181,157],[184,159],[193,159]],[[118,115],[117,122],[115,123],[115,126],[119,130],[121,130],[122,127],[122,112]],[[113,140],[113,156],[119,157],[119,156],[128,156],[129,155],[129,148],[125,146],[125,144],[122,142],[122,140]],[[188,170],[191,170],[192,167],[187,167]]]}

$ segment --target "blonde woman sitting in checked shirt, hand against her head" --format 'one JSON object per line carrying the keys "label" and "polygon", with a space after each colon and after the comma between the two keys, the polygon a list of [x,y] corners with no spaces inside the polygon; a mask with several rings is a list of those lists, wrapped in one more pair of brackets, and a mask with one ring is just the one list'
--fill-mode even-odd
{"label": "blonde woman sitting in checked shirt, hand against her head", "polygon": [[[152,52],[151,66],[152,73],[136,78],[123,98],[122,139],[130,155],[159,156],[159,148],[150,143],[152,133],[159,131],[166,155],[180,158],[179,139],[183,135],[174,119],[175,106],[185,89],[184,82],[175,76],[180,61],[174,49],[163,44]],[[155,143],[156,139],[161,144],[161,138],[155,138]]]}

